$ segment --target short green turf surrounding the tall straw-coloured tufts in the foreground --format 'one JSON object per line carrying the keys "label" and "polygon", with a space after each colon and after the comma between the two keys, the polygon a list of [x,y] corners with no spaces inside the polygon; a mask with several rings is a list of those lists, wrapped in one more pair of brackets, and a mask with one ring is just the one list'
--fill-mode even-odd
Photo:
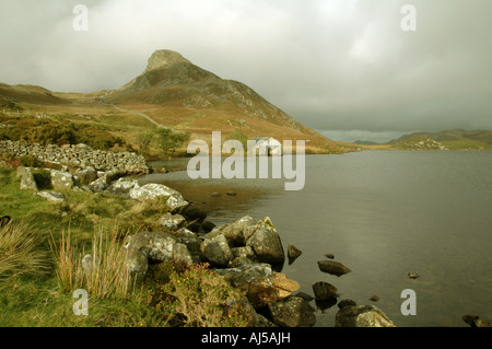
{"label": "short green turf surrounding the tall straw-coloured tufts in the foreground", "polygon": [[[58,244],[61,232],[71,230],[78,242],[89,244],[94,230],[118,230],[121,235],[139,231],[145,221],[153,221],[164,211],[148,209],[134,201],[114,195],[92,195],[66,191],[66,203],[51,203],[30,190],[19,189],[14,172],[0,172],[0,214],[13,221],[28,221],[43,237],[40,248],[51,266],[38,277],[0,279],[0,327],[3,326],[145,326],[159,325],[149,314],[145,293],[130,300],[90,299],[90,316],[74,316],[74,300],[60,288],[49,244]],[[89,245],[87,245],[89,246]]]}

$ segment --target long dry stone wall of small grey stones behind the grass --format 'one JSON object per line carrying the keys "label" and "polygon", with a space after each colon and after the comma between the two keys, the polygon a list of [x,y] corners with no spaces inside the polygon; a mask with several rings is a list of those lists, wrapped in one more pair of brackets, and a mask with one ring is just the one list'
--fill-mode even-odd
{"label": "long dry stone wall of small grey stones behind the grass", "polygon": [[92,166],[96,171],[117,170],[122,174],[147,174],[149,167],[145,159],[134,152],[112,152],[94,150],[86,144],[42,146],[26,144],[19,141],[0,141],[0,150],[16,158],[31,155],[40,161],[70,166]]}

